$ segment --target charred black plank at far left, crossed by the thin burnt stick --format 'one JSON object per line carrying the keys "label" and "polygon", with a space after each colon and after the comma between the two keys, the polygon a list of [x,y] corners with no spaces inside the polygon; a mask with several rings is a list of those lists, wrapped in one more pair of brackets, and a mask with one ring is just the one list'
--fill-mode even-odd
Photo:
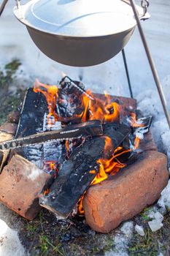
{"label": "charred black plank at far left, crossed by the thin burnt stick", "polygon": [[[28,89],[20,113],[20,121],[15,138],[23,138],[43,131],[45,113],[48,113],[47,102],[43,94]],[[38,167],[42,167],[43,145],[12,149],[12,154],[20,154]]]}

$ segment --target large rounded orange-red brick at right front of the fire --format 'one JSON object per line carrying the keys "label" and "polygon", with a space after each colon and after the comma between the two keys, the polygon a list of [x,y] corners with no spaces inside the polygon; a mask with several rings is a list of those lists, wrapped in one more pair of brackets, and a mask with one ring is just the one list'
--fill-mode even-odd
{"label": "large rounded orange-red brick at right front of the fire", "polygon": [[158,200],[169,180],[166,164],[166,155],[146,151],[133,165],[90,187],[83,200],[88,225],[109,233]]}

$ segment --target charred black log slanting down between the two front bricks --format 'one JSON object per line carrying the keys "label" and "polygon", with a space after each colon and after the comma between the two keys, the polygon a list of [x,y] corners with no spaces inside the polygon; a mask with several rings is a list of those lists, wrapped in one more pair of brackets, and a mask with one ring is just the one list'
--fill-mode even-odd
{"label": "charred black log slanting down between the two front bricks", "polygon": [[[130,129],[123,124],[104,124],[104,135],[86,140],[72,152],[69,160],[64,162],[59,170],[50,192],[47,195],[42,194],[39,203],[50,211],[68,217],[98,173],[97,160],[109,159],[129,132]],[[112,143],[109,150],[104,152],[106,137],[109,137]],[[95,170],[95,173],[90,170]]]}

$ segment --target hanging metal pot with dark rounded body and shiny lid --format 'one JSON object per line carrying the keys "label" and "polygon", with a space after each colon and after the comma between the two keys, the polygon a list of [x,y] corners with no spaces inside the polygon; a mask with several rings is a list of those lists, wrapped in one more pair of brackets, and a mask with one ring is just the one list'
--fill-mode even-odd
{"label": "hanging metal pot with dark rounded body and shiny lid", "polygon": [[[140,19],[149,18],[136,6]],[[127,44],[136,19],[127,0],[32,0],[14,8],[36,46],[61,64],[85,67],[111,59]]]}

